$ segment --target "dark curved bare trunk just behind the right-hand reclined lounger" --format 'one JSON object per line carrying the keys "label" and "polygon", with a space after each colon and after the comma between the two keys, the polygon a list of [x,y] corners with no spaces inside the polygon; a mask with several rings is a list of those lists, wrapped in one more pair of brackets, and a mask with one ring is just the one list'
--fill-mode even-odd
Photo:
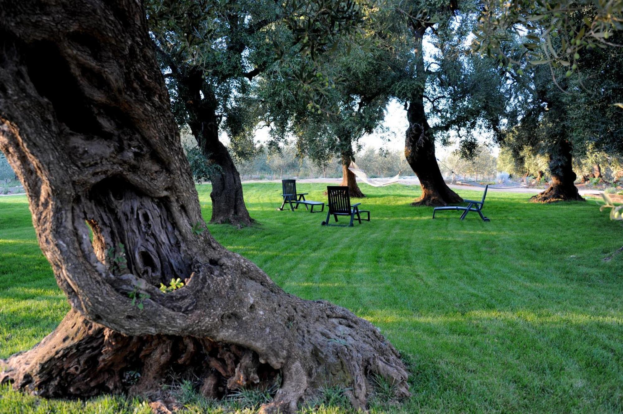
{"label": "dark curved bare trunk just behind the right-hand reclined lounger", "polygon": [[414,98],[407,109],[409,129],[406,132],[404,155],[420,181],[422,195],[412,206],[446,206],[463,201],[445,183],[435,157],[435,140],[429,136],[429,124],[422,99]]}

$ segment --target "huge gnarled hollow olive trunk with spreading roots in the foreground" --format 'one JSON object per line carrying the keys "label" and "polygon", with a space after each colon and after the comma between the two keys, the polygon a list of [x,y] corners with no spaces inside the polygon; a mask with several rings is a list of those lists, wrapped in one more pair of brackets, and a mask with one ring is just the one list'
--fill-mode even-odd
{"label": "huge gnarled hollow olive trunk with spreading roots in the foreground", "polygon": [[[371,323],[283,292],[207,231],[140,2],[4,2],[0,50],[0,149],[72,306],[0,362],[1,382],[157,399],[166,375],[192,372],[219,395],[278,372],[263,410],[282,413],[331,384],[364,407],[374,374],[408,395],[398,352]],[[184,287],[158,289],[178,277]]]}

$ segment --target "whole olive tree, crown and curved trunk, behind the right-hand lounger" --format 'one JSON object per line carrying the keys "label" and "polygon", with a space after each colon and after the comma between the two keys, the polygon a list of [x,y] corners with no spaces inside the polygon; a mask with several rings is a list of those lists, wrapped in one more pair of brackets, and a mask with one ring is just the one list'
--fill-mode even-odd
{"label": "whole olive tree, crown and curved trunk, behind the right-hand lounger", "polygon": [[[398,65],[402,80],[392,88],[404,101],[409,129],[405,156],[419,178],[421,197],[413,205],[444,206],[462,201],[445,184],[435,155],[435,140],[449,144],[454,132],[465,157],[477,146],[475,132],[497,131],[505,113],[505,88],[497,62],[467,49],[477,24],[472,2],[397,3],[396,31],[404,33],[407,52]],[[427,42],[425,42],[427,40]],[[433,45],[426,53],[424,45]]]}

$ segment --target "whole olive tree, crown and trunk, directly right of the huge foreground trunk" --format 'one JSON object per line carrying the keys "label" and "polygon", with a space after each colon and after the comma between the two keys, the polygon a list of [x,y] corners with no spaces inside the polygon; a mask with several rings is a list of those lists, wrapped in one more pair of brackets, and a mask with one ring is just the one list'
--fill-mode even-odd
{"label": "whole olive tree, crown and trunk, directly right of the huge foreground trunk", "polygon": [[[219,166],[219,173],[211,176],[212,223],[249,225],[253,221],[244,205],[239,173],[219,141],[219,132],[224,118],[228,132],[244,127],[234,91],[244,93],[257,75],[256,68],[272,57],[257,52],[267,48],[262,45],[267,34],[260,32],[278,19],[277,10],[267,3],[146,1],[151,35],[178,124],[189,126],[207,162]],[[249,46],[254,53],[244,59],[242,52]],[[232,134],[234,139],[236,135]]]}

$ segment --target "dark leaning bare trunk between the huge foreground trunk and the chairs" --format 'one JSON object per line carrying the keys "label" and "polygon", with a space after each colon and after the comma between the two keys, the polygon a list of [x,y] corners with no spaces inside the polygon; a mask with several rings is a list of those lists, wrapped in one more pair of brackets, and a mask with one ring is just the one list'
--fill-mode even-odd
{"label": "dark leaning bare trunk between the huge foreground trunk and the chairs", "polygon": [[205,82],[202,70],[189,69],[180,76],[182,81],[179,92],[188,94],[188,99],[184,101],[189,117],[189,127],[201,152],[209,163],[216,166],[215,172],[210,177],[212,183],[210,223],[250,226],[254,220],[244,204],[240,174],[235,168],[229,151],[219,140],[220,121],[216,114],[216,97],[211,91],[202,88]]}

